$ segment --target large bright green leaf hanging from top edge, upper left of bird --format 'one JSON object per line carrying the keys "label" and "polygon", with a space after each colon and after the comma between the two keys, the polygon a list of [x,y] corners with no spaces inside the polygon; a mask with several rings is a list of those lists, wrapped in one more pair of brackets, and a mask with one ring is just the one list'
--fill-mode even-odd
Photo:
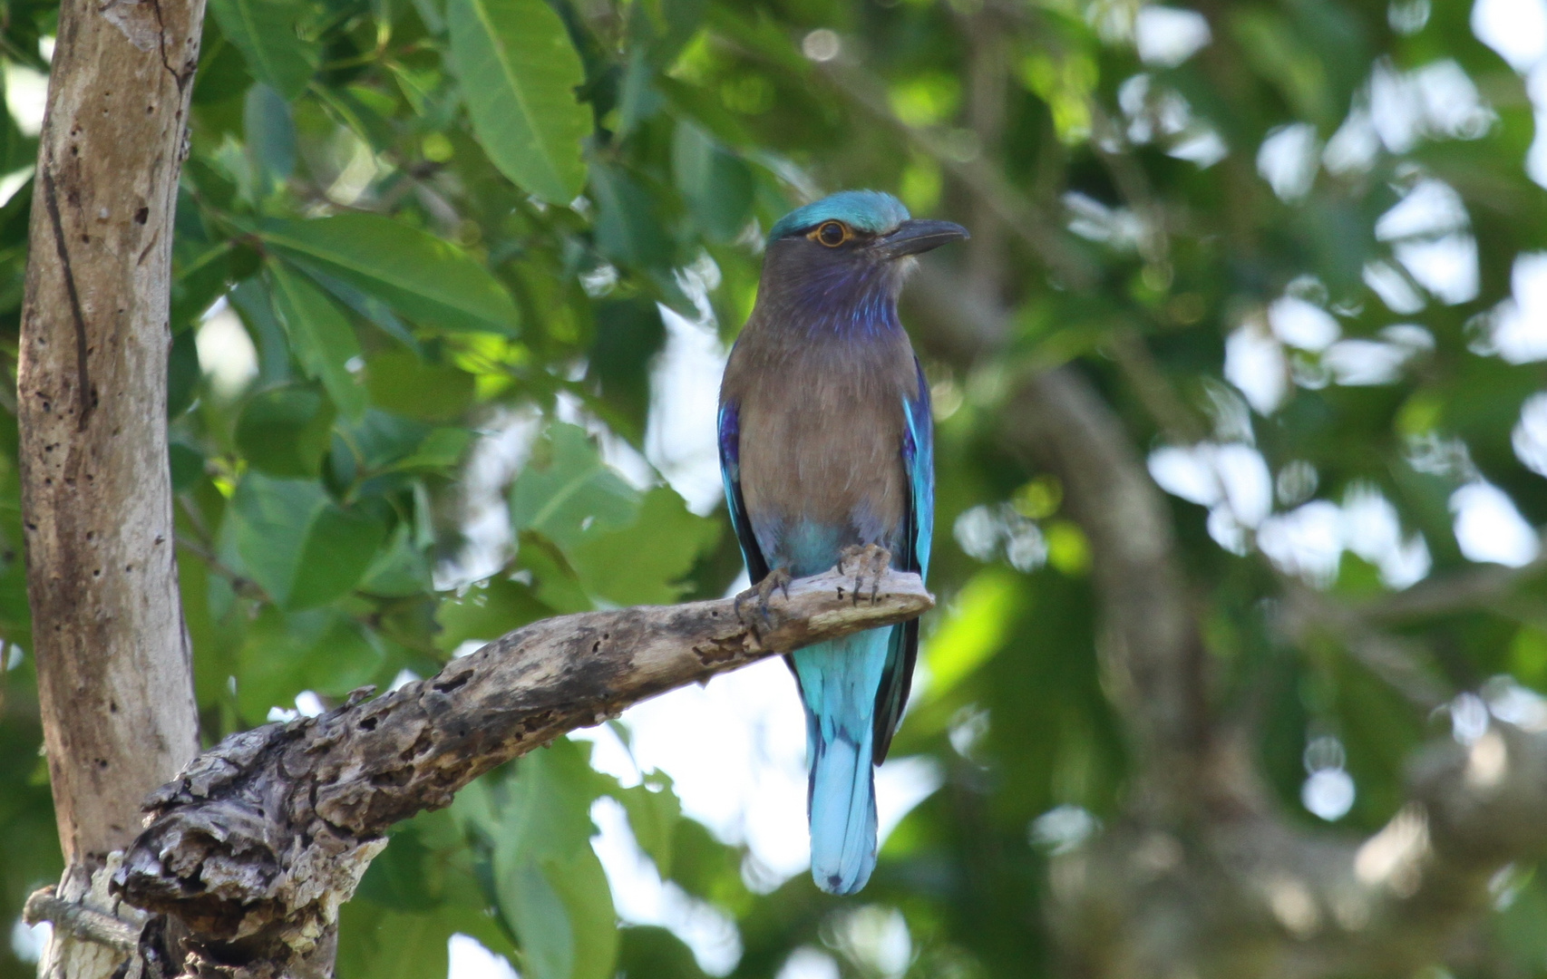
{"label": "large bright green leaf hanging from top edge, upper left of bird", "polygon": [[450,0],[452,62],[473,131],[518,187],[568,204],[585,186],[580,142],[591,111],[563,20],[543,0]]}

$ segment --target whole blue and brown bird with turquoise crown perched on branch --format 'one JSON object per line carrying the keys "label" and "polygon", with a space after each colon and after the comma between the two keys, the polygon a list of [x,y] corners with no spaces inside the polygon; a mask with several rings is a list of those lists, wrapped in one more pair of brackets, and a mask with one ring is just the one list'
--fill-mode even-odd
{"label": "whole blue and brown bird with turquoise crown perched on branch", "polygon": [[[843,190],[769,230],[719,388],[730,521],[766,612],[774,588],[845,561],[920,577],[934,523],[930,388],[897,317],[924,252],[967,238],[890,193]],[[845,571],[845,574],[848,574]],[[859,588],[859,582],[855,582]],[[874,766],[919,654],[917,620],[786,657],[806,711],[811,874],[854,894],[876,869]]]}

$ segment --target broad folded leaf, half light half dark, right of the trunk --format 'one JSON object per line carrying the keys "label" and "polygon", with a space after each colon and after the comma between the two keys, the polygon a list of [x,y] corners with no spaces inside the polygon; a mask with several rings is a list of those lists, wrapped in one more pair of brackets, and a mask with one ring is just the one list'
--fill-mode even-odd
{"label": "broad folded leaf, half light half dark, right of the trunk", "polygon": [[232,498],[234,544],[248,574],[286,609],[314,608],[348,594],[385,529],[345,510],[309,479],[249,470]]}

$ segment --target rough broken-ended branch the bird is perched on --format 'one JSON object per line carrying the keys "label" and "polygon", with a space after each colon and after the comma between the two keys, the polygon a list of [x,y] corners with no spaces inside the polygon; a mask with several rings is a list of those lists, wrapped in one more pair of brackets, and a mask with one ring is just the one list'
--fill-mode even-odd
{"label": "rough broken-ended branch the bird is perched on", "polygon": [[114,892],[193,934],[196,976],[326,974],[339,905],[398,820],[495,766],[673,687],[919,616],[914,574],[829,571],[766,606],[722,599],[548,619],[438,676],[234,735],[158,789]]}

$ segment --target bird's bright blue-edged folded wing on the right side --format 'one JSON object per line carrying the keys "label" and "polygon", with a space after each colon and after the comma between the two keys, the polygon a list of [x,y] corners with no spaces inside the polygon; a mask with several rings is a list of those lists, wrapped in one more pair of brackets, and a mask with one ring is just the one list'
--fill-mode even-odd
{"label": "bird's bright blue-edged folded wing on the right side", "polygon": [[[900,554],[894,563],[902,571],[914,571],[922,578],[930,569],[930,543],[934,534],[934,422],[930,416],[930,387],[924,368],[919,374],[917,397],[903,397],[902,466],[908,473],[908,510]],[[919,620],[911,619],[891,628],[886,668],[876,691],[876,764],[886,759],[891,735],[902,721],[913,685],[913,665],[919,659]]]}

